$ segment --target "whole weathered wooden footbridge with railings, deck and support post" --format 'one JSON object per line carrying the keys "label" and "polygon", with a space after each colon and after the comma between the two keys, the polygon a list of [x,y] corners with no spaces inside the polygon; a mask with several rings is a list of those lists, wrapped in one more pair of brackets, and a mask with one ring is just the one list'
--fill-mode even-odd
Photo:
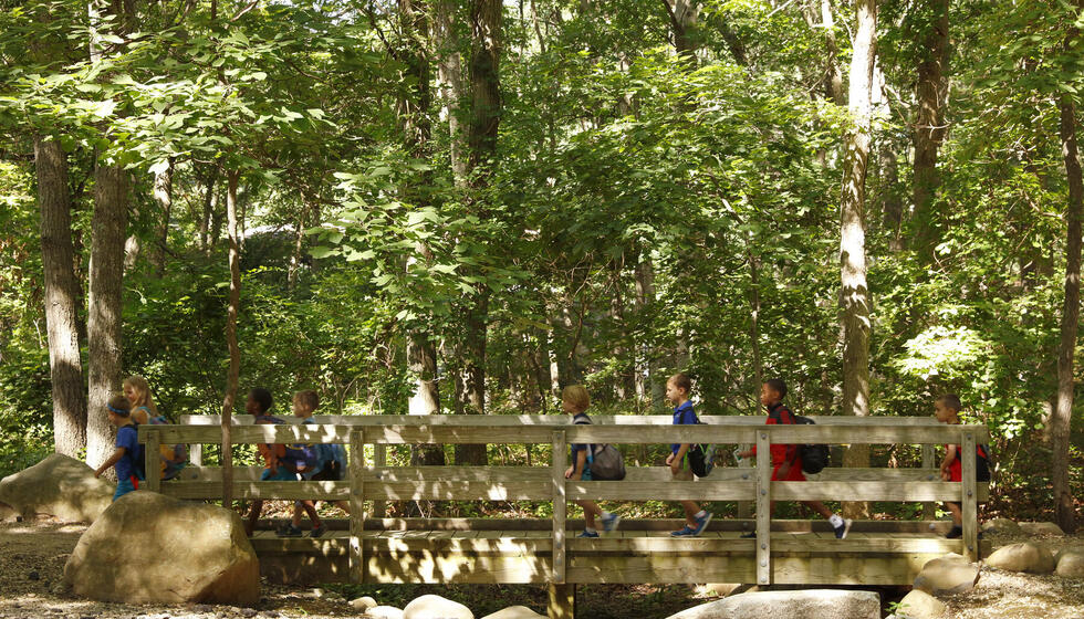
{"label": "whole weathered wooden footbridge with railings, deck and support post", "polygon": [[[588,583],[750,583],[807,585],[909,585],[923,565],[945,553],[972,560],[986,554],[978,539],[977,505],[986,483],[974,482],[974,444],[988,441],[982,426],[945,426],[926,418],[815,418],[815,426],[765,426],[763,417],[705,417],[707,426],[671,426],[669,416],[595,417],[571,426],[564,416],[317,416],[316,424],[252,424],[239,416],[233,443],[343,443],[348,476],[340,482],[261,482],[259,468],[234,472],[234,496],[246,500],[346,500],[348,529],[311,539],[258,532],[252,544],[264,575],[279,580],[351,583],[545,584],[550,617],[571,618],[574,587]],[[220,444],[220,420],[190,416],[179,426],[140,426],[148,470],[161,443]],[[921,468],[830,468],[806,482],[772,482],[768,458],[753,468],[716,468],[705,479],[671,481],[668,468],[628,466],[621,482],[571,481],[570,443],[710,442],[920,444]],[[419,443],[550,444],[549,465],[388,466],[387,445]],[[962,445],[963,483],[942,482],[934,445]],[[372,445],[372,447],[371,447]],[[629,458],[626,455],[626,464]],[[180,480],[149,480],[149,490],[178,499],[221,497],[221,469],[194,465]],[[622,521],[618,532],[576,538],[582,521],[566,517],[577,499],[755,504],[754,521],[716,520],[700,537],[674,538],[677,521]],[[926,503],[924,520],[854,524],[836,539],[826,522],[771,521],[771,501],[889,501]],[[539,501],[552,518],[371,517],[386,501]],[[932,503],[963,507],[963,537],[946,539],[947,524],[932,522]],[[707,505],[710,508],[710,505]],[[741,538],[744,531],[755,538]]]}

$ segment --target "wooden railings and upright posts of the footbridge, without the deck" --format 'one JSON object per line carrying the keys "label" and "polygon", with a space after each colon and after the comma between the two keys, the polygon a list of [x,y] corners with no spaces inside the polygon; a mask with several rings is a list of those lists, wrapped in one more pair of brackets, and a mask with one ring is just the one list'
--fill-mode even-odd
{"label": "wooden railings and upright posts of the footbridge, without the deck", "polygon": [[[765,426],[763,417],[708,417],[707,426],[671,426],[669,416],[596,417],[593,426],[571,426],[557,416],[322,416],[317,424],[251,424],[239,417],[233,443],[342,443],[351,447],[350,475],[340,482],[261,482],[257,470],[241,469],[233,492],[240,499],[348,499],[351,502],[350,569],[352,579],[365,580],[361,538],[366,501],[402,500],[527,500],[552,501],[552,562],[549,581],[566,581],[566,502],[592,500],[751,501],[757,505],[757,581],[771,581],[771,501],[956,501],[963,507],[962,550],[977,559],[977,503],[984,501],[988,484],[974,481],[974,445],[988,440],[982,426],[946,426],[925,418],[820,418],[815,426]],[[147,443],[148,470],[154,449],[161,443],[218,444],[217,417],[187,418],[186,426],[140,426],[139,440]],[[248,423],[248,424],[246,424]],[[575,443],[682,443],[755,444],[768,454],[770,444],[921,444],[928,458],[921,469],[830,468],[805,482],[772,482],[769,458],[753,469],[716,468],[705,479],[673,481],[667,468],[628,469],[621,482],[571,481],[564,478],[567,445]],[[551,444],[549,466],[408,466],[384,465],[386,445],[418,443]],[[942,482],[932,465],[932,445],[962,445],[963,483]],[[375,445],[376,458],[366,462],[365,445]],[[165,484],[148,480],[148,487],[181,499],[221,495],[221,470],[194,466],[181,481]],[[591,541],[588,541],[591,542]]]}

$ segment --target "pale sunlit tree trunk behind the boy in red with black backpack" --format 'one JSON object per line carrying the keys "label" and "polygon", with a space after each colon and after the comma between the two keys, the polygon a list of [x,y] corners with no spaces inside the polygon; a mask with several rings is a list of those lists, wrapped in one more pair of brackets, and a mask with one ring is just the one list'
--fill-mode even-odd
{"label": "pale sunlit tree trunk behind the boy in red with black backpack", "polygon": [[[876,54],[877,2],[855,2],[854,56],[851,62],[851,126],[845,139],[840,240],[843,310],[843,415],[869,415],[869,291],[866,287],[865,201],[869,159],[871,86]],[[867,445],[852,445],[844,465],[869,465]],[[848,517],[868,517],[868,503],[844,503]]]}

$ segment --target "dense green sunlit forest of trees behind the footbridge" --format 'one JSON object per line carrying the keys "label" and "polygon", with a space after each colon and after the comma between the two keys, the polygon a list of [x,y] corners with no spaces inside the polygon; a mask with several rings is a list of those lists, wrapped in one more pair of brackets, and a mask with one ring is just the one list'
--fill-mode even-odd
{"label": "dense green sunlit forest of trees behind the footbridge", "polygon": [[103,461],[129,374],[176,419],[665,413],[685,370],[706,415],[958,392],[987,508],[1074,528],[1078,1],[0,8],[0,474]]}

